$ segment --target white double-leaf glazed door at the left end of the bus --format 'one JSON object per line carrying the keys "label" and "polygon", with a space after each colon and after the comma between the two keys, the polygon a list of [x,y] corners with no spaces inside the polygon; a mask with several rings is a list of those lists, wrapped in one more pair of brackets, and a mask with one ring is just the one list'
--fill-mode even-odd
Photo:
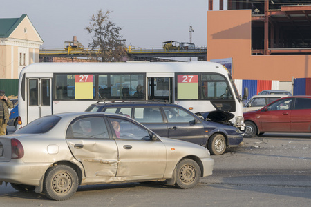
{"label": "white double-leaf glazed door at the left end of the bus", "polygon": [[28,78],[27,124],[52,114],[52,95],[50,78]]}

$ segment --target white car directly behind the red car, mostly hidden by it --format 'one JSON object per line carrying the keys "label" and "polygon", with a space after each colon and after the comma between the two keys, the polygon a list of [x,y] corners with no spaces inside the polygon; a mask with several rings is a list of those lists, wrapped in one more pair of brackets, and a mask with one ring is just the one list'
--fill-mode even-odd
{"label": "white car directly behind the red car, mostly hidden by it", "polygon": [[272,101],[275,101],[275,100],[283,98],[283,97],[288,97],[288,95],[285,95],[285,94],[254,95],[243,106],[243,112],[261,109],[261,108],[263,108],[263,106],[266,106],[267,104],[271,103]]}

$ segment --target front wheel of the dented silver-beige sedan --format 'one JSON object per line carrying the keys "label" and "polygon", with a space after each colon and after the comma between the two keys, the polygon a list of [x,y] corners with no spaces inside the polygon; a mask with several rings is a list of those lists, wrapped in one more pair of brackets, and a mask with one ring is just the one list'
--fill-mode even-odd
{"label": "front wheel of the dented silver-beige sedan", "polygon": [[178,188],[194,188],[200,181],[201,169],[196,161],[182,159],[176,168],[176,183]]}

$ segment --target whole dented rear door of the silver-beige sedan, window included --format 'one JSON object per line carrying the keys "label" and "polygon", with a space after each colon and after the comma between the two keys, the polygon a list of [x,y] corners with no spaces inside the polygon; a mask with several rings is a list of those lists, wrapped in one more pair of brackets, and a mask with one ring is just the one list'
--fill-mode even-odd
{"label": "whole dented rear door of the silver-beige sedan, window included", "polygon": [[84,116],[71,121],[66,132],[73,156],[84,166],[85,176],[94,181],[105,181],[117,173],[117,144],[108,128],[104,116]]}

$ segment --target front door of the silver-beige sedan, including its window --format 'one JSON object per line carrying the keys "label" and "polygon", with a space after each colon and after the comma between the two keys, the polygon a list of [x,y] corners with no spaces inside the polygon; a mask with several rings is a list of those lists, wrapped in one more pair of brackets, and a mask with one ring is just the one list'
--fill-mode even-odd
{"label": "front door of the silver-beige sedan, including its window", "polygon": [[127,180],[162,179],[167,165],[167,149],[152,132],[135,121],[109,115],[119,150],[117,177]]}

